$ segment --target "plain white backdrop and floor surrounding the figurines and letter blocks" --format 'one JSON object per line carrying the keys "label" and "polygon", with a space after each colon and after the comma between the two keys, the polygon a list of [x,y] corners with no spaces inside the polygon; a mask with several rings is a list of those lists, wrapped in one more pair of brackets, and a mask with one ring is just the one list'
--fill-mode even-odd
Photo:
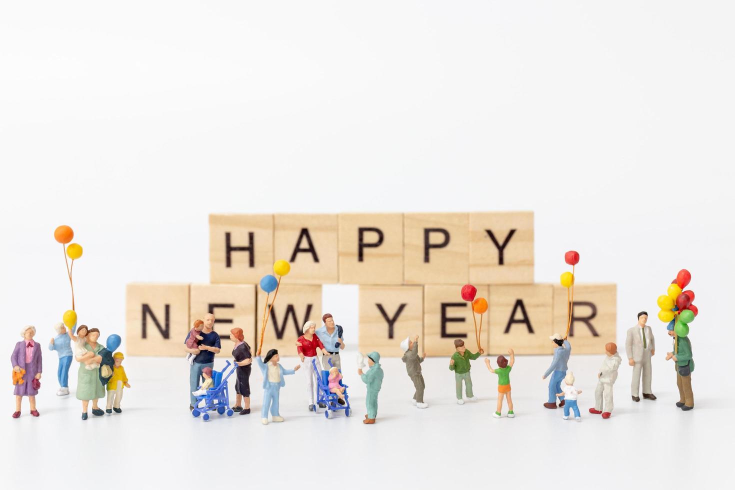
{"label": "plain white backdrop and floor surrounding the figurines and letter blocks", "polygon": [[[481,403],[454,406],[436,359],[426,368],[432,407],[420,413],[404,406],[408,380],[388,361],[373,427],[359,423],[362,409],[306,421],[297,375],[282,394],[287,423],[263,428],[254,415],[205,428],[186,409],[183,359],[126,360],[126,414],[82,424],[79,403],[54,396],[56,359],[45,351],[40,419],[10,418],[9,379],[0,404],[11,488],[38,472],[60,488],[295,486],[306,471],[300,488],[717,483],[734,433],[725,412],[733,10],[727,1],[4,2],[4,352],[26,324],[45,346],[68,309],[52,237],[62,223],[85,247],[77,310],[106,338],[123,333],[126,283],[208,281],[211,212],[531,209],[536,281],[557,281],[564,251],[580,251],[578,281],[618,284],[619,345],[648,309],[660,353],[659,400],[633,404],[621,367],[606,421],[583,414],[562,425],[559,411],[543,411],[550,359],[540,357],[517,361],[514,420],[490,419],[495,379],[478,363]],[[673,407],[669,341],[655,317],[682,267],[700,309],[688,414]],[[354,325],[356,289],[325,288],[324,308]],[[583,411],[599,361],[573,358]],[[362,406],[359,381],[345,378]]]}

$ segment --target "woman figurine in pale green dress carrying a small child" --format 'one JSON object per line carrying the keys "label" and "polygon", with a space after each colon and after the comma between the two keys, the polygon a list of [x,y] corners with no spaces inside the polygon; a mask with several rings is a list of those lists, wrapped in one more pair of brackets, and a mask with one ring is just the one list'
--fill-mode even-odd
{"label": "woman figurine in pale green dress carrying a small child", "polygon": [[[100,398],[104,398],[104,385],[99,379],[99,365],[102,362],[102,357],[98,353],[104,347],[97,343],[99,330],[98,328],[87,328],[87,325],[79,325],[79,328],[76,329],[76,336],[86,340],[85,353],[79,356],[77,351],[74,351],[75,359],[79,361],[79,371],[76,372],[76,399],[82,402],[82,420],[87,419],[90,400],[92,401],[92,414],[101,417],[104,415],[104,411],[100,410],[97,403]],[[69,337],[73,339],[71,332],[69,332]],[[87,352],[93,353],[91,359],[89,359]],[[90,370],[90,365],[96,367]]]}

